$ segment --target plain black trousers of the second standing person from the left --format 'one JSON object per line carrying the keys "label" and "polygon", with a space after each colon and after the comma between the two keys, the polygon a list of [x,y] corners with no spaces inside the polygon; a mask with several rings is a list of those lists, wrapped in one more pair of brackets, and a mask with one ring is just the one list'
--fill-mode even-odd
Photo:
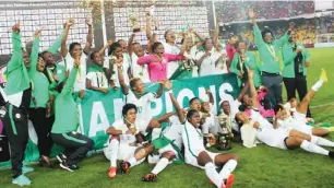
{"label": "plain black trousers of the second standing person from the left", "polygon": [[29,118],[34,125],[38,137],[39,155],[50,156],[52,148],[51,128],[55,121],[55,116],[46,117],[46,108],[31,108]]}

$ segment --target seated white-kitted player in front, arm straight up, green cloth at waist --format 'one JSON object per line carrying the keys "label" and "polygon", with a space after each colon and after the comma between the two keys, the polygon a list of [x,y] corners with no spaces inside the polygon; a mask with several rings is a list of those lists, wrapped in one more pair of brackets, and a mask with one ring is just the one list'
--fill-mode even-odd
{"label": "seated white-kitted player in front, arm straight up, green cloth at waist", "polygon": [[[165,86],[169,89],[169,96],[177,109],[179,119],[183,118],[186,111],[179,107],[179,104],[171,93],[171,83],[166,82]],[[167,119],[169,121],[169,125],[163,131],[162,137],[152,142],[154,148],[158,149],[160,160],[157,162],[151,173],[143,176],[143,181],[156,181],[158,173],[164,171],[171,161],[183,161],[183,156],[181,154],[182,125],[180,124],[179,119],[172,116],[175,113],[168,113],[159,118],[159,122],[166,121]]]}

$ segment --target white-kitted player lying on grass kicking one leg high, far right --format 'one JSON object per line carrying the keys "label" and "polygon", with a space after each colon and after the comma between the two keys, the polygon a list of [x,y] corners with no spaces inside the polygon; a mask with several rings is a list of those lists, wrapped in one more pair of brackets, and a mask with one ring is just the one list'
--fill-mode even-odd
{"label": "white-kitted player lying on grass kicking one leg high, far right", "polygon": [[[326,74],[325,71],[323,70],[320,80],[312,86],[312,89],[307,93],[307,95],[302,98],[302,101],[298,105],[296,99],[290,101],[284,106],[278,104],[274,108],[278,126],[293,128],[300,132],[319,136],[319,137],[329,134],[331,128],[330,130],[325,128],[313,128],[311,126],[308,126],[306,120],[310,101],[313,98],[315,92],[320,89],[323,82],[326,81],[327,81]],[[290,116],[289,111],[289,108],[291,107],[293,108],[296,107],[296,111],[294,113],[293,116]]]}

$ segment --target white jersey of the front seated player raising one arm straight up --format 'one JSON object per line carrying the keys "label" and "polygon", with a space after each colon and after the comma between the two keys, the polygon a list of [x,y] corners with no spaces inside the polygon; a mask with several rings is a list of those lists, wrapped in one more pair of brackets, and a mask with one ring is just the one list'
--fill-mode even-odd
{"label": "white jersey of the front seated player raising one arm straight up", "polygon": [[174,141],[174,143],[181,150],[182,146],[182,125],[178,120],[177,116],[169,118],[170,122],[162,132],[164,137]]}

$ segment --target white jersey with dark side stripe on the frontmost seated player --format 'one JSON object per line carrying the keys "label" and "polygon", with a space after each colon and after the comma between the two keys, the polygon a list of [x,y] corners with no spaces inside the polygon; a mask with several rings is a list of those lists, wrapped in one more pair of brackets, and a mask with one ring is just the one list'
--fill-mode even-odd
{"label": "white jersey with dark side stripe on the frontmost seated player", "polygon": [[187,158],[198,157],[201,152],[205,151],[204,138],[201,129],[194,128],[188,121],[183,125],[182,140],[186,148],[186,162]]}

